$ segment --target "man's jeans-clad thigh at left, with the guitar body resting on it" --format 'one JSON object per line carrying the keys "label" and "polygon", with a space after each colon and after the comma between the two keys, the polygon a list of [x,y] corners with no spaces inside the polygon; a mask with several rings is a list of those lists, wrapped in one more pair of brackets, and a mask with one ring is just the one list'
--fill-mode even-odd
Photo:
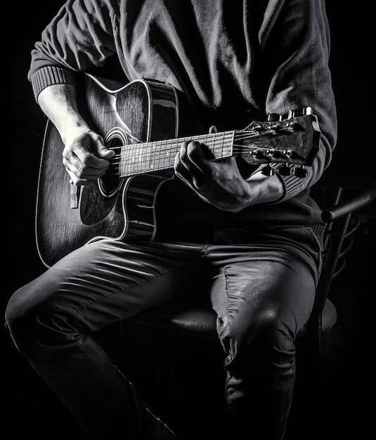
{"label": "man's jeans-clad thigh at left, with the guitar body resting on it", "polygon": [[75,331],[98,330],[183,297],[199,266],[194,246],[99,240],[15,292],[8,310],[30,319],[53,317],[60,327],[73,325]]}

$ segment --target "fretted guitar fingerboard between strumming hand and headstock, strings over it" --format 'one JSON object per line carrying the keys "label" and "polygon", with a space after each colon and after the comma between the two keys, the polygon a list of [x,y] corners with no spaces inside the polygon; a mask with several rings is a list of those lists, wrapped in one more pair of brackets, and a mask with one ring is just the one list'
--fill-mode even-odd
{"label": "fretted guitar fingerboard between strumming hand and headstock, strings over it", "polygon": [[207,157],[212,160],[233,155],[235,131],[174,138],[165,141],[135,143],[119,147],[119,177],[157,172],[174,167],[176,153],[184,141],[197,141],[205,145]]}

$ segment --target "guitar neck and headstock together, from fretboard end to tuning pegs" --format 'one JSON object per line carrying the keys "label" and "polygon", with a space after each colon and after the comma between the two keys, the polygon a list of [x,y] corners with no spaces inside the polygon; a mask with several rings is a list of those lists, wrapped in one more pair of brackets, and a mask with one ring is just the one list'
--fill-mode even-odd
{"label": "guitar neck and headstock together, from fretboard end to tuning pegs", "polygon": [[199,142],[207,160],[242,156],[249,164],[284,162],[310,166],[318,150],[319,138],[320,130],[313,115],[279,122],[252,122],[240,131],[114,147],[115,157],[108,175],[128,177],[171,169],[184,141]]}

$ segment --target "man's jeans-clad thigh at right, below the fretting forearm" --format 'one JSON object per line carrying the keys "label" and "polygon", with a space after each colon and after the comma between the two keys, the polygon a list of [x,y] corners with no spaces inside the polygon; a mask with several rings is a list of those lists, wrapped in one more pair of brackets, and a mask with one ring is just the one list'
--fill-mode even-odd
{"label": "man's jeans-clad thigh at right, below the fretting forearm", "polygon": [[293,340],[313,307],[316,284],[311,265],[277,247],[235,246],[221,256],[211,299],[222,342],[225,335],[252,341],[249,335],[257,337],[263,328]]}

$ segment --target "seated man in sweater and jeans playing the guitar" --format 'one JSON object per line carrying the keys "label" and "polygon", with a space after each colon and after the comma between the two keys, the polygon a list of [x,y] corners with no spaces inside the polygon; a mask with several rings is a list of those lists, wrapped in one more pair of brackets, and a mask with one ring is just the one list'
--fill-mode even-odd
{"label": "seated man in sweater and jeans playing the guitar", "polygon": [[286,173],[274,162],[209,160],[205,145],[182,142],[174,179],[157,192],[153,240],[83,245],[11,297],[15,344],[89,438],[175,438],[91,332],[184,299],[204,276],[227,355],[234,438],[283,439],[294,337],[309,318],[321,264],[323,225],[309,188],[336,141],[328,57],[323,0],[69,0],[35,44],[29,79],[63,140],[73,188],[96,185],[114,156],[77,105],[83,72],[108,74],[113,58],[126,81],[174,87],[184,136],[307,107],[321,131],[306,175],[296,165]]}

